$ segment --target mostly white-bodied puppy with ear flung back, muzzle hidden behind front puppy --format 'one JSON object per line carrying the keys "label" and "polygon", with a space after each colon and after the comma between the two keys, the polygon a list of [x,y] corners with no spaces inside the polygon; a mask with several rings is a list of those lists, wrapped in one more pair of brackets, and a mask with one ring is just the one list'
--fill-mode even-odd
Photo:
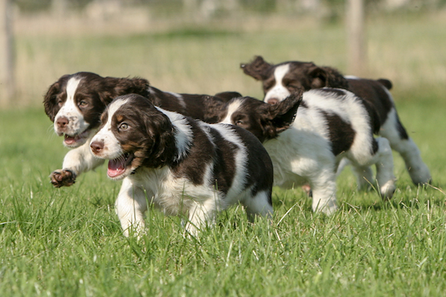
{"label": "mostly white-bodied puppy with ear flung back, muzzle hidden behind front puppy", "polygon": [[234,98],[222,109],[220,122],[243,127],[263,142],[273,161],[275,185],[289,188],[309,182],[313,210],[331,214],[337,209],[336,169],[342,158],[353,164],[359,187],[374,181],[365,168],[376,165],[382,197],[394,193],[391,148],[387,139],[374,138],[375,116],[355,94],[321,88],[292,93],[275,105]]}

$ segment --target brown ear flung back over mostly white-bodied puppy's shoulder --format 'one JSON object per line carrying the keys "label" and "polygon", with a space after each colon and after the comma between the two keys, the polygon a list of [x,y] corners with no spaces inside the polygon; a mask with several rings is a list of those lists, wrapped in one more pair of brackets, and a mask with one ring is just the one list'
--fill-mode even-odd
{"label": "brown ear flung back over mostly white-bodied puppy's shoulder", "polygon": [[273,134],[277,136],[280,132],[288,129],[295,121],[297,108],[302,102],[303,89],[292,93],[285,100],[275,105],[265,104],[268,108],[270,122],[272,124]]}

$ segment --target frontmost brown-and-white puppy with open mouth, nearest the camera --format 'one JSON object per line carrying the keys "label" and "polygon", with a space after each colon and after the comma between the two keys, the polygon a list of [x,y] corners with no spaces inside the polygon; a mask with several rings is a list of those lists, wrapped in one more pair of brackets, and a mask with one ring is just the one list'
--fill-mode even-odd
{"label": "frontmost brown-and-white puppy with open mouth, nearest the camera", "polygon": [[192,235],[239,202],[250,219],[273,214],[273,165],[245,129],[193,120],[135,94],[116,98],[101,121],[89,145],[110,160],[108,177],[123,179],[116,211],[126,236],[144,228],[147,202],[188,216]]}

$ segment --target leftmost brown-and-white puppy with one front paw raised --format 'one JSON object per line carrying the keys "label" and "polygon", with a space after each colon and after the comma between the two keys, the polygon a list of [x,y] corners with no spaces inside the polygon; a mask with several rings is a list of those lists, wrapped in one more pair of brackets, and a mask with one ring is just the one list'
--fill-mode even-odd
{"label": "leftmost brown-and-white puppy with one front paw raised", "polygon": [[54,122],[57,135],[64,136],[64,146],[73,148],[64,157],[62,169],[51,173],[52,185],[70,186],[76,176],[101,165],[90,151],[90,139],[97,132],[105,107],[119,95],[137,93],[166,110],[216,122],[215,104],[241,96],[236,92],[209,95],[177,94],[149,86],[143,78],[102,77],[91,72],[64,75],[52,84],[43,101],[45,112]]}

